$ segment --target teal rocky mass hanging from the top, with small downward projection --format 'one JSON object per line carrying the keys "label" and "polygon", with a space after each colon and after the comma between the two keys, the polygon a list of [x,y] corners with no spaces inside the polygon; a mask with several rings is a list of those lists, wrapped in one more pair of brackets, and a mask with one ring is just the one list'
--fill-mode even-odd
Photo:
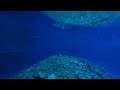
{"label": "teal rocky mass hanging from the top, with small downward projection", "polygon": [[119,11],[44,11],[55,26],[65,29],[66,25],[98,26],[120,17]]}

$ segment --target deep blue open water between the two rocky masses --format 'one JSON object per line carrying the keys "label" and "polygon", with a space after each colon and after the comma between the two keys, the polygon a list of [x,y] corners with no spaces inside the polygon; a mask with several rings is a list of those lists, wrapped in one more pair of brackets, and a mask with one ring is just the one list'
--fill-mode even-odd
{"label": "deep blue open water between the two rocky masses", "polygon": [[88,59],[120,78],[120,21],[99,27],[54,27],[39,11],[0,12],[0,78],[50,55]]}

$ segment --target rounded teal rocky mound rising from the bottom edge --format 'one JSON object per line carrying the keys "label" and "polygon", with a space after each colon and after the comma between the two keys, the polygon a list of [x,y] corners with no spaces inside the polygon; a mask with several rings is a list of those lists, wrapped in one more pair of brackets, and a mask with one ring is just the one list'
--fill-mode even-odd
{"label": "rounded teal rocky mound rising from the bottom edge", "polygon": [[111,79],[101,67],[80,57],[53,55],[12,79]]}

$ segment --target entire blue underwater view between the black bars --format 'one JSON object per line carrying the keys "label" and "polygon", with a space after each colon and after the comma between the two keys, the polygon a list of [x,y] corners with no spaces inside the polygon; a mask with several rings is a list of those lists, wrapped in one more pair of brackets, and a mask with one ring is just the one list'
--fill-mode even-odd
{"label": "entire blue underwater view between the black bars", "polygon": [[0,11],[0,79],[120,79],[120,11]]}

